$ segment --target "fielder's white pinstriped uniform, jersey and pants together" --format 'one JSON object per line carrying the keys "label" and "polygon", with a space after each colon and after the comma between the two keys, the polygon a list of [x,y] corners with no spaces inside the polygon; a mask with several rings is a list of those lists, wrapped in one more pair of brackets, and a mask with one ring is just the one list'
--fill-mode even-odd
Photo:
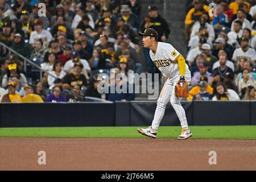
{"label": "fielder's white pinstriped uniform, jersey and pants together", "polygon": [[[164,111],[166,110],[166,105],[171,102],[172,107],[176,111],[177,117],[180,120],[182,128],[188,127],[187,118],[185,115],[185,110],[180,104],[181,98],[175,96],[175,85],[180,79],[179,65],[176,63],[176,58],[180,53],[168,43],[158,42],[156,52],[150,50],[150,57],[155,64],[155,66],[162,72],[164,77],[167,77],[155,110],[154,120],[152,122],[152,129],[157,130],[160,122],[162,121]],[[188,69],[188,65],[185,65],[185,80],[191,81],[191,72]]]}

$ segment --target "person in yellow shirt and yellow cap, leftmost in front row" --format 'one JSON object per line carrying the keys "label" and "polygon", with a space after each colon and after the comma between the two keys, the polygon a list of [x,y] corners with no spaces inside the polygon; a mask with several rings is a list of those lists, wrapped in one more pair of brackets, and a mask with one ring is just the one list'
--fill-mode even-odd
{"label": "person in yellow shirt and yellow cap, leftmost in front row", "polygon": [[8,93],[3,96],[1,102],[10,102],[10,103],[21,103],[22,98],[16,93],[16,85],[14,82],[9,82],[7,85]]}

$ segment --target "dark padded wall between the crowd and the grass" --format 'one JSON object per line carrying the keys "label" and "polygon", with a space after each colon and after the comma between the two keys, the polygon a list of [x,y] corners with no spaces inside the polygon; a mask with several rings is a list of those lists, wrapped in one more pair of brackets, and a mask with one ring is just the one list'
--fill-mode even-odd
{"label": "dark padded wall between the crowd and the grass", "polygon": [[[256,125],[256,101],[182,102],[188,125]],[[0,104],[0,127],[148,126],[156,101]],[[179,126],[170,104],[162,126]]]}

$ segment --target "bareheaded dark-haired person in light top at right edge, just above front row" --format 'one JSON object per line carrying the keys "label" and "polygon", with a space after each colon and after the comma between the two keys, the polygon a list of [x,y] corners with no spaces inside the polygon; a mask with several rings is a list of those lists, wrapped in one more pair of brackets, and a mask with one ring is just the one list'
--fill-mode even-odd
{"label": "bareheaded dark-haired person in light top at right edge, just above front row", "polygon": [[237,78],[237,87],[240,96],[243,96],[245,94],[245,88],[247,86],[256,87],[256,81],[254,80],[253,76],[249,75],[249,69],[243,69],[242,79],[240,79],[240,77]]}

